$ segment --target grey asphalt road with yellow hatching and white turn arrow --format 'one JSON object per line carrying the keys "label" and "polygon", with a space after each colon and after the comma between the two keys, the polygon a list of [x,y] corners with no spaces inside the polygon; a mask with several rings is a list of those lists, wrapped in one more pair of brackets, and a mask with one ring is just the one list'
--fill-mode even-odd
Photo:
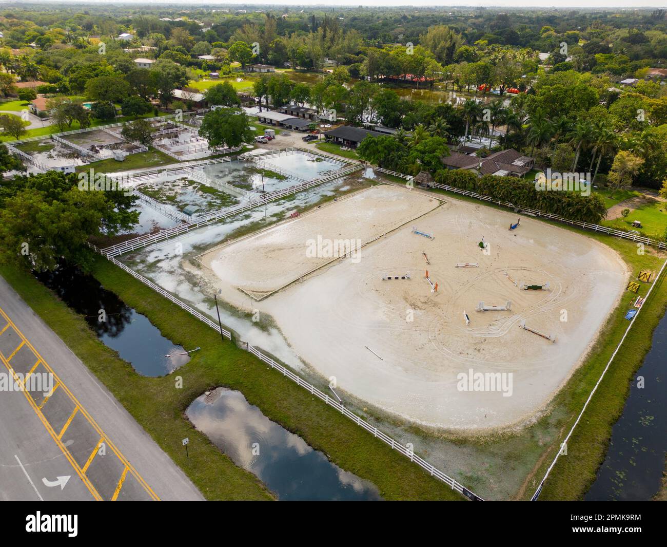
{"label": "grey asphalt road with yellow hatching and white turn arrow", "polygon": [[203,499],[2,277],[0,439],[0,500]]}

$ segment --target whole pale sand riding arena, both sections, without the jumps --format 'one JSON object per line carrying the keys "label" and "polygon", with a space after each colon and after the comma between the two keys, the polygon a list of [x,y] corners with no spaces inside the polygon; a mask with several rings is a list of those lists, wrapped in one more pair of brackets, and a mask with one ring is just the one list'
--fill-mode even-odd
{"label": "whole pale sand riding arena, both sections, without the jumps", "polygon": [[[528,216],[510,231],[516,214],[458,200],[433,209],[430,199],[418,190],[372,188],[209,252],[203,262],[215,275],[202,271],[223,298],[242,305],[247,297],[235,287],[271,291],[311,269],[303,259],[306,238],[372,240],[431,208],[364,247],[360,260],[331,262],[257,309],[275,319],[303,361],[336,378],[339,392],[434,427],[516,425],[540,411],[580,363],[628,273],[613,250],[581,234]],[[413,224],[435,238],[413,234]],[[488,254],[477,245],[482,236]],[[458,262],[479,267],[455,268]],[[426,268],[437,293],[424,279]],[[412,279],[382,280],[406,273]],[[521,291],[510,278],[548,282],[550,290]],[[511,311],[475,311],[480,301],[508,300]],[[521,321],[556,342],[520,329]],[[506,373],[504,389],[463,390],[458,375],[470,371]]]}

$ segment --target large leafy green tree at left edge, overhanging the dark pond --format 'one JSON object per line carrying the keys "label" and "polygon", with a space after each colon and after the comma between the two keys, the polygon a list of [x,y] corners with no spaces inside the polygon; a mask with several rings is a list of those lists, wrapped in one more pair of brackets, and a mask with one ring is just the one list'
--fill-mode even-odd
{"label": "large leafy green tree at left edge, overhanging the dark pond", "polygon": [[[83,174],[86,176],[87,174]],[[94,260],[91,236],[113,236],[139,220],[137,196],[123,190],[79,190],[76,174],[47,171],[0,186],[0,261],[51,270],[65,260],[84,270]],[[21,251],[26,248],[27,254]]]}

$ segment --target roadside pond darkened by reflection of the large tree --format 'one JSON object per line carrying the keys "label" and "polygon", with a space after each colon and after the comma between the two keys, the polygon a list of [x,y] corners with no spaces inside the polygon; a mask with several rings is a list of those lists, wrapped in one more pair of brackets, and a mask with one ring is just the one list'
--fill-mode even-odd
{"label": "roadside pond darkened by reflection of the large tree", "polygon": [[163,376],[189,361],[189,356],[182,355],[182,347],[173,345],[145,316],[104,289],[94,277],[64,266],[35,277],[83,315],[97,337],[139,374]]}

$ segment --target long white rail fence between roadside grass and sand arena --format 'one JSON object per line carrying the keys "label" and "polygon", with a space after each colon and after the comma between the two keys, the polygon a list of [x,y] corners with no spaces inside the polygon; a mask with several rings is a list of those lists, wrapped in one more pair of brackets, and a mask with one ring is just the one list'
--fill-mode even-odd
{"label": "long white rail fence between roadside grass and sand arena", "polygon": [[[193,307],[187,305],[185,302],[183,302],[180,299],[178,299],[177,297],[174,297],[173,295],[171,295],[171,293],[168,293],[167,291],[165,291],[162,287],[159,287],[159,285],[155,285],[155,283],[153,283],[149,279],[146,279],[145,277],[143,277],[139,273],[135,272],[131,268],[125,266],[125,264],[123,264],[123,262],[120,262],[116,258],[113,258],[113,256],[109,256],[108,254],[105,254],[105,252],[103,252],[103,250],[100,250],[95,245],[89,244],[89,246],[91,248],[93,248],[96,252],[98,252],[99,254],[102,254],[103,256],[105,256],[108,260],[113,262],[113,264],[115,264],[116,266],[121,268],[123,271],[129,273],[129,275],[131,275],[135,279],[141,281],[141,283],[147,285],[148,287],[153,289],[153,291],[159,293],[159,295],[162,295],[163,297],[165,297],[169,301],[173,302],[175,305],[177,305],[181,309],[184,309],[188,313],[191,313],[191,315],[193,315],[194,317],[199,319],[199,321],[202,321],[203,323],[205,323],[206,325],[211,327],[211,329],[214,329],[216,332],[221,332],[225,338],[227,338],[228,340],[231,341],[231,331],[229,331],[229,330],[225,329],[224,327],[221,327],[219,324],[211,321],[211,319],[209,319],[208,317],[203,315],[203,313],[201,313],[201,312],[197,311],[196,309],[194,309]],[[259,351],[255,347],[251,346],[249,343],[243,342],[242,344],[245,345],[245,347],[246,347],[246,349],[249,353],[251,353],[252,355],[255,355],[255,357],[257,357],[258,359],[263,361],[263,363],[266,363],[272,369],[275,369],[275,370],[279,371],[283,376],[285,376],[285,377],[291,379],[291,381],[295,382],[296,385],[298,385],[299,387],[302,387],[303,389],[305,389],[306,391],[311,393],[311,395],[314,395],[315,397],[317,397],[321,401],[324,401],[325,404],[333,407],[334,409],[336,409],[337,411],[342,413],[344,416],[346,416],[349,419],[351,419],[352,421],[354,421],[354,423],[356,423],[358,426],[362,427],[363,429],[366,429],[366,431],[368,431],[369,433],[372,433],[374,437],[377,437],[378,439],[380,439],[381,441],[383,441],[384,443],[386,443],[387,445],[392,447],[392,449],[402,453],[404,456],[406,456],[406,458],[409,458],[411,462],[420,466],[420,468],[422,468],[423,470],[428,472],[432,477],[436,478],[440,482],[444,482],[447,486],[450,486],[450,488],[452,488],[452,490],[455,490],[459,494],[462,494],[463,496],[466,496],[466,498],[468,498],[470,500],[480,501],[480,502],[484,501],[482,498],[480,498],[480,496],[478,496],[477,494],[474,494],[474,492],[472,492],[472,490],[469,490],[468,488],[465,488],[460,482],[458,482],[454,478],[444,474],[442,471],[440,471],[438,468],[436,468],[436,466],[434,466],[433,464],[430,464],[429,462],[427,462],[423,458],[420,458],[420,456],[418,456],[416,453],[414,453],[414,450],[402,445],[401,443],[396,441],[396,439],[390,437],[389,435],[387,435],[383,431],[380,431],[380,429],[378,429],[378,427],[368,423],[368,421],[362,419],[362,417],[360,417],[359,415],[357,415],[354,412],[348,410],[343,403],[339,403],[338,401],[336,401],[336,399],[333,399],[332,397],[329,397],[329,395],[327,395],[327,393],[323,393],[322,391],[317,389],[317,387],[315,387],[311,383],[308,383],[303,378],[301,378],[299,375],[297,375],[297,374],[293,373],[291,370],[289,370],[287,367],[284,367],[280,363],[276,363],[271,357],[268,357],[267,355],[264,355],[263,353],[261,353],[261,351]]]}

